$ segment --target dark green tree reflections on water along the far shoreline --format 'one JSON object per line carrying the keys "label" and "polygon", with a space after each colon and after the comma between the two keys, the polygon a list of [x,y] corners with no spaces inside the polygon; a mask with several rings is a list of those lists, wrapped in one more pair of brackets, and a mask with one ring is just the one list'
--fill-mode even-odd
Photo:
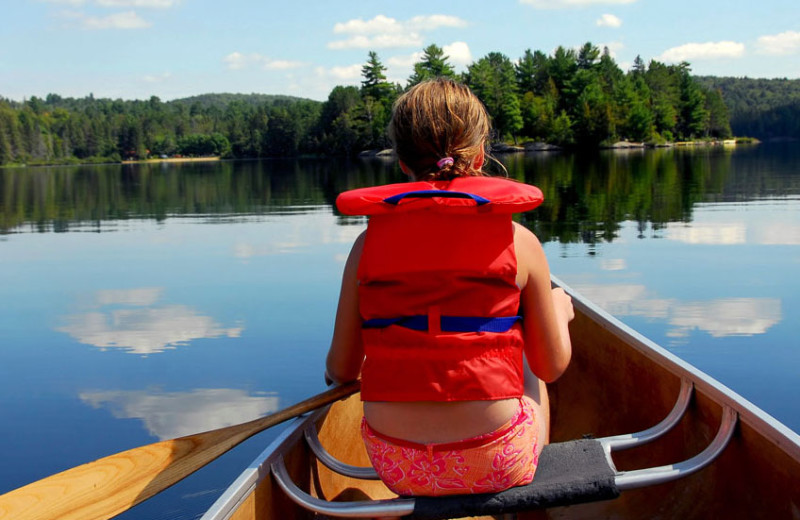
{"label": "dark green tree reflections on water along the far shoreline", "polygon": [[[661,229],[671,222],[691,222],[704,203],[797,195],[800,178],[776,171],[792,171],[788,165],[796,164],[798,155],[792,148],[708,147],[500,159],[511,177],[544,192],[543,206],[523,217],[543,242],[596,243],[618,238],[626,221]],[[131,218],[329,211],[344,190],[403,180],[397,165],[385,160],[0,169],[0,234],[26,226],[39,232],[106,231],[114,229],[110,222]],[[739,232],[732,228],[725,231],[731,236],[711,238],[737,240]]]}

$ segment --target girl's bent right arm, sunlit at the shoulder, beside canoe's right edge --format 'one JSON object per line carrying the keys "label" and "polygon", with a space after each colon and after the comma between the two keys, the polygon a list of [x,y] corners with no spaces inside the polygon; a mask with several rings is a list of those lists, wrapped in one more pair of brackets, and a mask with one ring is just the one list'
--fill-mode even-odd
{"label": "girl's bent right arm, sunlit at the shoulder, beside canoe's right edge", "polygon": [[550,268],[539,239],[523,226],[514,227],[525,357],[533,373],[550,383],[564,373],[572,357],[572,299],[563,289],[551,289]]}

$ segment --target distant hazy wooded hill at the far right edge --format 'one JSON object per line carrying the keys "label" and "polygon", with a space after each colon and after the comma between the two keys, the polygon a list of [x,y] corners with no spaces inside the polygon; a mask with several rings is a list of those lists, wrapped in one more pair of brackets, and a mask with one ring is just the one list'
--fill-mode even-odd
{"label": "distant hazy wooded hill at the far right edge", "polygon": [[719,89],[737,136],[800,139],[800,79],[695,76],[703,87]]}

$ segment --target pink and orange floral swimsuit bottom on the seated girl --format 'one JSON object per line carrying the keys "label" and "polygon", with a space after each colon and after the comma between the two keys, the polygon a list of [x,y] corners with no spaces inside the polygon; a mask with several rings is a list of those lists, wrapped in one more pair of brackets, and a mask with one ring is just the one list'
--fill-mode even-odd
{"label": "pink and orange floral swimsuit bottom on the seated girl", "polygon": [[442,496],[495,493],[533,480],[538,428],[527,397],[497,430],[443,444],[419,444],[387,437],[361,421],[372,466],[398,495]]}

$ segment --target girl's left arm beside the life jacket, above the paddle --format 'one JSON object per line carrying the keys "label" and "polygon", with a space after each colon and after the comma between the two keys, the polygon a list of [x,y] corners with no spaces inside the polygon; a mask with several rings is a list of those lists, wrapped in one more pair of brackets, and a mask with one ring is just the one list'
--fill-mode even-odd
{"label": "girl's left arm beside the life jacket, above the paddle", "polygon": [[353,244],[342,275],[342,289],[333,339],[328,351],[325,377],[334,383],[346,383],[358,378],[364,361],[361,343],[361,315],[358,312],[358,262],[364,248],[364,233]]}

